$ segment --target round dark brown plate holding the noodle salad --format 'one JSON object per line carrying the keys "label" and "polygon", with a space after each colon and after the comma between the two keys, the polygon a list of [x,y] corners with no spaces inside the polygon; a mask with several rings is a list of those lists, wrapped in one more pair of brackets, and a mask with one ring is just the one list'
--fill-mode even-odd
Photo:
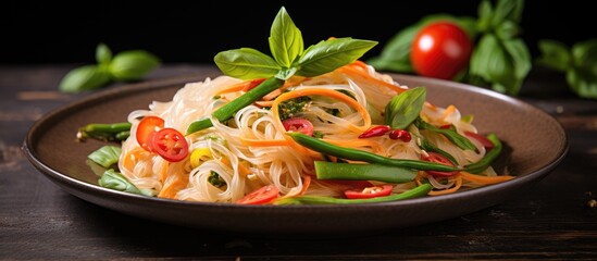
{"label": "round dark brown plate holding the noodle salad", "polygon": [[496,133],[505,153],[496,169],[517,178],[456,194],[395,202],[343,206],[238,206],[187,202],[125,194],[98,185],[86,157],[101,141],[77,142],[78,127],[88,123],[126,121],[153,100],[169,101],[185,83],[214,77],[213,71],[190,77],[126,85],[96,92],[45,114],[27,133],[23,151],[53,183],[91,203],[175,225],[254,234],[375,233],[438,222],[512,199],[548,175],[565,157],[568,138],[549,114],[519,99],[471,85],[391,74],[400,84],[425,86],[436,105],[455,104],[473,114],[480,133]]}

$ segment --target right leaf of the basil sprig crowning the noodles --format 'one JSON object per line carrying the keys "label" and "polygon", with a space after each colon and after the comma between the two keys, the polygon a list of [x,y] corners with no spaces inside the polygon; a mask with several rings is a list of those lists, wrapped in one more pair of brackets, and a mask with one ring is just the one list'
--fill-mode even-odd
{"label": "right leaf of the basil sprig crowning the noodles", "polygon": [[361,58],[377,41],[334,38],[310,46],[298,64],[297,75],[313,77],[332,72]]}

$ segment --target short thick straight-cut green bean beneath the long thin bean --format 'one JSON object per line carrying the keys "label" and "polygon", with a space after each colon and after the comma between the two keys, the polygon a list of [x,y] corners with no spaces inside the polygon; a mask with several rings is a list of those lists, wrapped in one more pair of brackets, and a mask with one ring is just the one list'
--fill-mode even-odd
{"label": "short thick straight-cut green bean beneath the long thin bean", "polygon": [[414,179],[416,171],[382,164],[350,164],[315,161],[318,179],[378,181],[407,183]]}

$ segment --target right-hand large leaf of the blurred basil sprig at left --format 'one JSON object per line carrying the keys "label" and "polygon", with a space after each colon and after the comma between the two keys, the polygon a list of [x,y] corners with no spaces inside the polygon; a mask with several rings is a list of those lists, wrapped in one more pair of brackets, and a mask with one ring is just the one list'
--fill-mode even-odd
{"label": "right-hand large leaf of the blurred basil sprig at left", "polygon": [[160,66],[160,60],[144,50],[117,53],[110,62],[110,73],[116,80],[137,80]]}

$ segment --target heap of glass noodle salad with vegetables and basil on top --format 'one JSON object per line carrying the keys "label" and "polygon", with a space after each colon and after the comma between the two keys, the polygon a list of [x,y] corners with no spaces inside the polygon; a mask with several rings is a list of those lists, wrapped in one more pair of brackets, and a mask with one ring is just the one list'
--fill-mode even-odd
{"label": "heap of glass noodle salad with vegetables and basil on top", "polygon": [[89,124],[78,136],[120,141],[88,158],[99,184],[175,200],[239,204],[360,203],[437,196],[513,178],[492,162],[456,105],[426,101],[359,58],[376,42],[329,38],[303,47],[284,8],[272,57],[223,51],[224,75],[188,83],[126,123]]}

